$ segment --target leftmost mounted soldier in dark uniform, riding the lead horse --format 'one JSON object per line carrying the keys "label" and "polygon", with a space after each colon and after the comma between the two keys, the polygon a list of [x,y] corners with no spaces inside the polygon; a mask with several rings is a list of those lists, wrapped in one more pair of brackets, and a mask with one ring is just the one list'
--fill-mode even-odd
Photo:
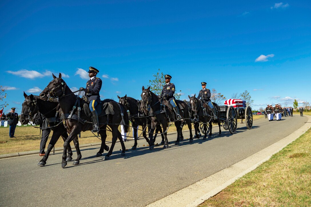
{"label": "leftmost mounted soldier in dark uniform, riding the lead horse", "polygon": [[81,87],[80,90],[84,91],[85,96],[87,97],[89,101],[89,108],[93,116],[94,120],[94,127],[92,132],[99,132],[99,121],[98,121],[98,114],[95,109],[97,104],[100,104],[100,89],[102,85],[102,81],[100,78],[96,77],[99,70],[97,70],[95,67],[89,68],[89,77],[90,80],[86,82],[86,88]]}

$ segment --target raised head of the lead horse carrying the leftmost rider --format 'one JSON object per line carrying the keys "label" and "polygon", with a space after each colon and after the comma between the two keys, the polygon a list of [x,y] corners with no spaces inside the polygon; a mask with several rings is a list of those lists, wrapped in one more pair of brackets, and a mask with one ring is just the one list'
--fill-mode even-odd
{"label": "raised head of the lead horse carrying the leftmost rider", "polygon": [[46,101],[48,98],[59,97],[64,94],[66,88],[66,82],[62,79],[62,74],[59,73],[59,77],[53,75],[53,80],[45,87],[40,93],[40,99]]}

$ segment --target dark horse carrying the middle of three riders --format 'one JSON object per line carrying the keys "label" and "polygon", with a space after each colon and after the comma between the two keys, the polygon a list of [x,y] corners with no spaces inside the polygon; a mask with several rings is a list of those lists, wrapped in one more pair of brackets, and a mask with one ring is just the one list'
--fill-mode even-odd
{"label": "dark horse carrying the middle of three riders", "polygon": [[[168,148],[168,140],[167,140],[167,124],[171,121],[174,121],[174,111],[172,109],[170,109],[169,107],[169,103],[168,101],[162,101],[162,99],[154,94],[151,90],[150,90],[150,86],[145,89],[144,86],[142,86],[142,104],[140,106],[141,111],[143,111],[145,113],[145,115],[149,115],[149,111],[148,111],[148,107],[150,104],[150,108],[153,112],[153,115],[150,116],[151,117],[151,130],[149,131],[149,149],[152,150],[154,148],[154,143],[153,143],[153,132],[155,130],[155,127],[159,124],[162,124],[162,128],[164,131],[164,149]],[[190,116],[189,116],[189,112],[188,112],[188,107],[187,104],[183,101],[180,100],[176,100],[177,105],[181,105],[183,107],[183,110],[180,110],[182,113],[180,113],[180,116],[182,117],[181,120],[179,121],[174,121],[175,122],[175,126],[176,126],[176,130],[177,130],[177,140],[175,142],[175,145],[179,145],[179,141],[180,141],[180,135],[181,135],[181,131],[183,128],[183,125],[187,123],[189,131],[190,131],[190,140],[189,142],[193,142],[193,138],[192,138],[192,129],[191,129],[191,121],[190,121]],[[162,103],[164,104],[164,107],[166,107],[166,113],[162,113]],[[183,137],[182,137],[183,139]]]}

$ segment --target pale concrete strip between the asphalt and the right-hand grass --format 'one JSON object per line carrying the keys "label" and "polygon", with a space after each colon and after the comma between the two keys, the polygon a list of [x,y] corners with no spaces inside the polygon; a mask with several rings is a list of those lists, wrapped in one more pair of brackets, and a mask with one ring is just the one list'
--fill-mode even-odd
{"label": "pale concrete strip between the asphalt and the right-hand grass", "polygon": [[235,182],[243,175],[253,171],[263,162],[269,160],[273,154],[281,151],[285,146],[296,140],[304,132],[311,127],[311,116],[308,117],[307,122],[294,131],[290,135],[277,141],[276,143],[266,147],[263,150],[245,158],[229,168],[220,170],[219,172],[206,177],[194,184],[187,186],[179,191],[176,191],[160,200],[157,200],[147,207],[158,207],[158,206],[187,206],[195,207],[200,205],[205,200],[216,195],[227,186]]}

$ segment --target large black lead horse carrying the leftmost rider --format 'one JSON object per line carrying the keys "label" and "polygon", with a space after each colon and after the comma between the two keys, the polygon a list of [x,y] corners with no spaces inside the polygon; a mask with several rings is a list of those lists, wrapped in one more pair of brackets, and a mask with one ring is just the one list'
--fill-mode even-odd
{"label": "large black lead horse carrying the leftmost rider", "polygon": [[[69,133],[67,140],[64,143],[63,150],[63,160],[62,168],[67,165],[66,154],[67,154],[67,145],[76,137],[81,131],[87,131],[92,129],[92,118],[86,115],[83,107],[80,108],[79,103],[82,102],[82,105],[86,103],[83,99],[80,99],[76,96],[70,89],[67,87],[66,82],[62,79],[62,74],[59,73],[58,78],[53,75],[53,80],[45,87],[45,89],[40,93],[40,99],[50,100],[53,98],[58,98],[60,108],[62,109],[62,116],[64,126]],[[66,98],[65,98],[66,97]],[[77,107],[78,103],[78,107]],[[86,103],[88,105],[88,103]],[[104,149],[107,150],[105,140],[107,137],[106,128],[107,125],[110,127],[112,132],[112,144],[108,154],[104,157],[104,160],[108,160],[109,156],[112,154],[114,145],[117,139],[120,140],[122,146],[121,156],[125,156],[125,145],[123,143],[121,133],[118,130],[120,123],[123,121],[124,130],[128,131],[128,113],[126,113],[124,107],[115,102],[114,100],[109,100],[110,107],[116,113],[116,115],[109,116],[112,114],[104,114],[103,116],[99,115],[100,122],[100,136],[101,136],[101,146],[97,155],[101,155],[104,152]],[[100,104],[101,107],[104,107],[104,101]],[[78,110],[75,110],[78,108]],[[109,149],[109,148],[108,148]]]}

